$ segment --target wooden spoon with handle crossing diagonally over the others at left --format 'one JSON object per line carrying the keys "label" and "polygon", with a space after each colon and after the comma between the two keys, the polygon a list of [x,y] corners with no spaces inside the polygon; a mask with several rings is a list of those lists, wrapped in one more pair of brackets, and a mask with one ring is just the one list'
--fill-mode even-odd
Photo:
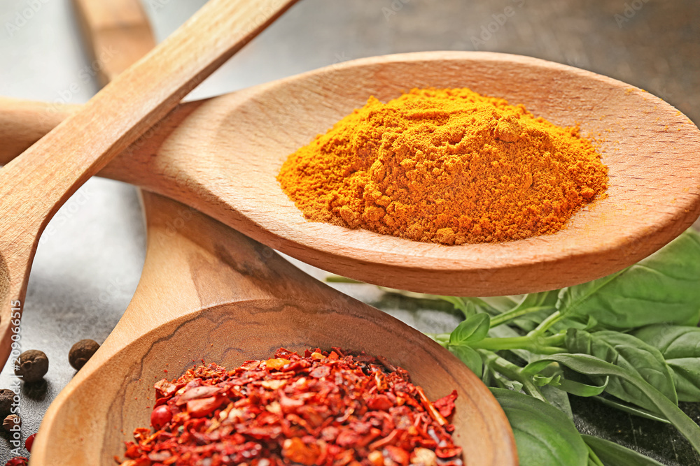
{"label": "wooden spoon with handle crossing diagonally over the others at left", "polygon": [[[295,0],[210,0],[172,36],[0,171],[0,358],[10,354],[38,237],[88,177]],[[17,347],[12,348],[19,354]],[[13,357],[15,353],[13,353]]]}

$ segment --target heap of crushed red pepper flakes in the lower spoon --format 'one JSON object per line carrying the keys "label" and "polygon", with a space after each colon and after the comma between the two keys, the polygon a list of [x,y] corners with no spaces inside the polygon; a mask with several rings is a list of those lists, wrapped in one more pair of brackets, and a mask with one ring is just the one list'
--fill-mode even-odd
{"label": "heap of crushed red pepper flakes in the lower spoon", "polygon": [[149,428],[120,466],[461,466],[448,421],[456,391],[430,402],[385,358],[278,349],[235,370],[211,363],[155,384]]}

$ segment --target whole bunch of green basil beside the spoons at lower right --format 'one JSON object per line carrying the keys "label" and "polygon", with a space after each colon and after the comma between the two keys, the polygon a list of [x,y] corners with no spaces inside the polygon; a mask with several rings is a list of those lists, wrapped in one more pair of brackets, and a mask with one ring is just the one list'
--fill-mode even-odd
{"label": "whole bunch of green basil beside the spoons at lower right", "polygon": [[659,464],[577,432],[568,394],[671,423],[700,452],[700,427],[678,407],[700,402],[699,233],[558,291],[440,298],[465,320],[433,337],[494,387],[521,465]]}

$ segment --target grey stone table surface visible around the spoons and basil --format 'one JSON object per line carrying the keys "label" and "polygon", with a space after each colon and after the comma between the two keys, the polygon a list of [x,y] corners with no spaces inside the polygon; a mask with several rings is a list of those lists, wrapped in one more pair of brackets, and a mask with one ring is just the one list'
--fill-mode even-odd
{"label": "grey stone table surface visible around the spoons and basil", "polygon": [[[144,0],[159,39],[203,3]],[[0,95],[90,99],[99,63],[87,59],[73,13],[69,0],[0,1]],[[302,0],[188,99],[348,59],[419,50],[489,50],[559,61],[642,87],[700,122],[697,0]],[[144,247],[137,190],[118,182],[90,180],[51,221],[36,252],[21,326],[22,349],[45,351],[50,370],[43,384],[20,393],[24,435],[36,432],[51,400],[73,377],[71,344],[104,341],[120,318],[137,286]],[[447,331],[458,322],[433,302],[368,285],[337,286],[420,330]],[[4,367],[0,388],[12,379],[11,367]],[[700,418],[696,407],[685,408]],[[589,402],[576,402],[575,409],[583,430],[668,465],[700,464],[667,426]],[[0,464],[9,458],[8,439],[0,438]]]}

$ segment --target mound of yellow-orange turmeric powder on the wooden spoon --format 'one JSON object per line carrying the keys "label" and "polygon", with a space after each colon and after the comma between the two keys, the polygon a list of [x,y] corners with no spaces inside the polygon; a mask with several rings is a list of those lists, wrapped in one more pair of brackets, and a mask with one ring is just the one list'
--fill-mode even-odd
{"label": "mound of yellow-orange turmeric powder on the wooden spoon", "polygon": [[607,189],[575,127],[469,89],[370,97],[277,177],[312,221],[460,245],[559,231]]}

